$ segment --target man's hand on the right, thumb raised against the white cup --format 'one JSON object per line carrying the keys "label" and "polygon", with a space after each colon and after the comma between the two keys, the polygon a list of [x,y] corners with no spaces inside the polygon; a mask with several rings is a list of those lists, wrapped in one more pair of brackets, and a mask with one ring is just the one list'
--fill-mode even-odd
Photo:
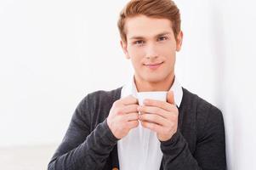
{"label": "man's hand on the right, thumb raised against the white cup", "polygon": [[156,132],[160,141],[171,139],[178,128],[179,111],[174,104],[174,93],[168,92],[168,102],[145,99],[144,105],[138,107],[139,121],[143,127]]}

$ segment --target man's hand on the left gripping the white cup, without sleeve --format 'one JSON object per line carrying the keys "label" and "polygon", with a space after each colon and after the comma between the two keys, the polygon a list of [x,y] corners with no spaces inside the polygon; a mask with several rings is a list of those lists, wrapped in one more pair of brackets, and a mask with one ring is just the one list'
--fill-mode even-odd
{"label": "man's hand on the left gripping the white cup, without sleeve", "polygon": [[111,107],[107,125],[117,139],[122,139],[128,132],[139,125],[138,100],[132,95],[118,99]]}

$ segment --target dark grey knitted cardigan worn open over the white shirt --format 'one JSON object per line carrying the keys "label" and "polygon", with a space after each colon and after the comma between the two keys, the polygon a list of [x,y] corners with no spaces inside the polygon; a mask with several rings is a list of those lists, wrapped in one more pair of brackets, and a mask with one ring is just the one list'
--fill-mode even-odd
{"label": "dark grey knitted cardigan worn open over the white shirt", "polygon": [[[118,169],[117,139],[106,124],[121,89],[88,94],[74,112],[48,170]],[[161,142],[160,169],[226,169],[225,127],[221,111],[183,88],[178,131]],[[116,167],[116,168],[115,168]]]}

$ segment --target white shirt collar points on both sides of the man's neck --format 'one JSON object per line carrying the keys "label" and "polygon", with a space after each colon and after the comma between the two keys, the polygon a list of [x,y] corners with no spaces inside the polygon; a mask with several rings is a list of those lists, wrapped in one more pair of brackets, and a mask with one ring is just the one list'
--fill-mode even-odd
{"label": "white shirt collar points on both sides of the man's neck", "polygon": [[[175,76],[174,77],[174,83],[173,86],[169,89],[174,92],[174,101],[175,104],[179,107],[181,104],[182,96],[183,96],[183,91],[182,87],[179,84],[178,78]],[[134,76],[130,78],[130,80],[122,87],[122,92],[121,92],[121,98],[124,98],[125,96],[128,95],[133,95],[135,98],[137,98],[137,88],[134,82]]]}

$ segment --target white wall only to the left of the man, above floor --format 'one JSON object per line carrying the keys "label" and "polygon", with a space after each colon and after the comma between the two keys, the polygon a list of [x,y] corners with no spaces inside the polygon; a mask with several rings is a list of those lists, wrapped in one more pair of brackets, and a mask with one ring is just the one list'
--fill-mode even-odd
{"label": "white wall only to the left of the man, above floor", "polygon": [[102,3],[1,1],[1,145],[60,143],[86,94],[125,82],[123,2]]}

